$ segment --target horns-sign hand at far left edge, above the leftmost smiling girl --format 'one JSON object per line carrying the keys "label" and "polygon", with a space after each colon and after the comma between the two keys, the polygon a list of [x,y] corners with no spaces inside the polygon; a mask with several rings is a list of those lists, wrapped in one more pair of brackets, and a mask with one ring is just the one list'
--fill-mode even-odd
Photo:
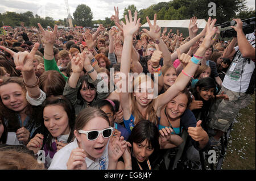
{"label": "horns-sign hand at far left edge, above the leftmost smiling girl", "polygon": [[34,70],[33,60],[35,58],[35,53],[38,50],[39,43],[35,43],[34,47],[30,52],[18,52],[15,53],[13,50],[9,48],[0,46],[1,49],[10,53],[14,58],[14,64],[16,65],[16,69],[20,71],[31,71]]}

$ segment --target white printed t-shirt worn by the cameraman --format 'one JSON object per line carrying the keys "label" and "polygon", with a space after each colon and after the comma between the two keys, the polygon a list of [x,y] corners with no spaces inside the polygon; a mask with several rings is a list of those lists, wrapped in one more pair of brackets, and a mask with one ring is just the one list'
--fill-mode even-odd
{"label": "white printed t-shirt worn by the cameraman", "polygon": [[[255,48],[255,40],[249,42],[253,48]],[[246,92],[254,69],[254,62],[250,60],[249,64],[249,61],[247,61],[246,58],[242,56],[242,53],[238,51],[232,64],[230,64],[222,86],[234,92]]]}

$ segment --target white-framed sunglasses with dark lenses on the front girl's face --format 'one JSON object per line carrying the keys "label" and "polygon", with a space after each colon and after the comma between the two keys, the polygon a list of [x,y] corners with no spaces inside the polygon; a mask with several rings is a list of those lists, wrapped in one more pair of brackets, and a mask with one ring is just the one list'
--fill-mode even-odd
{"label": "white-framed sunglasses with dark lenses on the front girl's face", "polygon": [[103,136],[104,138],[109,138],[109,137],[112,135],[113,128],[110,127],[110,128],[102,129],[101,131],[98,131],[98,130],[83,131],[83,130],[80,129],[78,132],[79,132],[79,133],[82,133],[82,134],[86,134],[87,139],[88,139],[89,141],[93,141],[93,140],[96,140],[96,139],[98,138],[98,136],[100,135],[100,133],[102,134],[102,136]]}

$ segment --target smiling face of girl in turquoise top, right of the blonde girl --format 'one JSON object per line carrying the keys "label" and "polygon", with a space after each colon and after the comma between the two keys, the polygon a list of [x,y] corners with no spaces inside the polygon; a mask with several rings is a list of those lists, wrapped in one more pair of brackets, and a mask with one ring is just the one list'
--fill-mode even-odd
{"label": "smiling face of girl in turquoise top, right of the blonde girl", "polygon": [[174,99],[172,99],[166,107],[167,115],[171,119],[177,119],[183,115],[187,108],[188,97],[185,94],[179,94]]}

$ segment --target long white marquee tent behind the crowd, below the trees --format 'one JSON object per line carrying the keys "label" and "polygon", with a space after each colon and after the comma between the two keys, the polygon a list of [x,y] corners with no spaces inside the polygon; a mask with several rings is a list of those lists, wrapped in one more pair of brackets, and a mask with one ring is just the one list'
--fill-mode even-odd
{"label": "long white marquee tent behind the crowd, below the trees", "polygon": [[[154,23],[154,20],[150,21],[151,24]],[[183,19],[183,20],[156,20],[156,24],[159,27],[172,27],[172,28],[188,28],[188,24],[190,19]],[[207,24],[207,21],[204,19],[197,19],[196,20],[197,27],[204,28]],[[143,24],[141,27],[148,27],[148,23]]]}

